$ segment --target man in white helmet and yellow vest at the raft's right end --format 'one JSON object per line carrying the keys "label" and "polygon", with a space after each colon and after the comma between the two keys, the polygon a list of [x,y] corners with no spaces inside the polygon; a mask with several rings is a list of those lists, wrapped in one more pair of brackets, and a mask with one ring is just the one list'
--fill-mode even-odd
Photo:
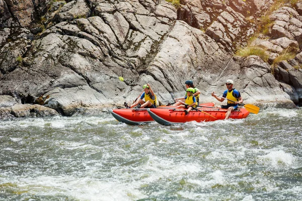
{"label": "man in white helmet and yellow vest at the raft's right end", "polygon": [[[229,119],[231,112],[238,110],[238,104],[243,103],[243,99],[241,97],[240,92],[237,89],[233,88],[233,84],[234,81],[232,79],[228,79],[225,81],[226,88],[228,89],[223,92],[222,97],[233,100],[235,103],[228,100],[226,106],[215,106],[215,108],[228,109],[228,112],[225,113],[224,120]],[[215,92],[213,91],[211,95],[214,96],[218,101],[223,102],[224,98],[217,97],[214,93]]]}

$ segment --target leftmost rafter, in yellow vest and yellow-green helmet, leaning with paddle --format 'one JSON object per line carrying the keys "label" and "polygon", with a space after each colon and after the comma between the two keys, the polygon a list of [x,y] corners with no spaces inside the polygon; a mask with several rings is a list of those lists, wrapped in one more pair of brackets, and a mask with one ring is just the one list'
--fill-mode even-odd
{"label": "leftmost rafter, in yellow vest and yellow-green helmet, leaning with paddle", "polygon": [[[133,108],[138,104],[141,105],[140,108],[156,108],[157,97],[150,84],[147,83],[143,85],[142,88],[144,89],[144,92],[141,94],[140,98],[130,106],[130,108]],[[145,101],[142,100],[143,98]]]}

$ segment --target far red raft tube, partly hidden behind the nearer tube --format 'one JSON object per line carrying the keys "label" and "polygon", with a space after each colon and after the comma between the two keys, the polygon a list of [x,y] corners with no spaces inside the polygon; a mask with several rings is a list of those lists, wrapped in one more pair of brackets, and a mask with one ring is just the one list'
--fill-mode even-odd
{"label": "far red raft tube, partly hidden behind the nearer tube", "polygon": [[[200,104],[200,106],[214,106],[214,103]],[[159,106],[153,110],[174,110],[175,106]],[[147,109],[114,109],[110,110],[112,116],[119,122],[129,125],[143,125],[154,122],[154,119],[149,115]]]}

